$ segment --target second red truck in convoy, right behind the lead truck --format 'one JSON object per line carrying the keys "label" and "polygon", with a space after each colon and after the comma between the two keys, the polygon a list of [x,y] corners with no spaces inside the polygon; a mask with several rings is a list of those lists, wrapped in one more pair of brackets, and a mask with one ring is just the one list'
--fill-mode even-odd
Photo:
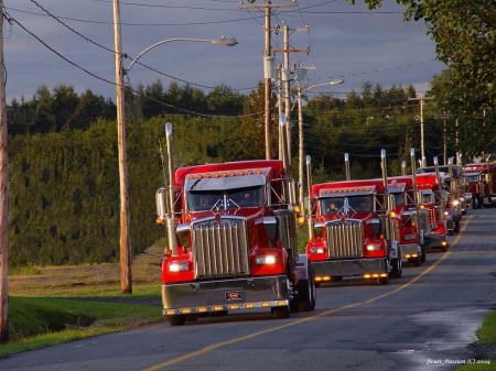
{"label": "second red truck in convoy, right behind the lead truck", "polygon": [[[398,241],[392,239],[387,196],[386,156],[382,179],[343,181],[310,186],[309,242],[315,283],[343,277],[387,284],[401,276]],[[309,166],[309,164],[308,164]],[[310,171],[308,171],[310,173]]]}

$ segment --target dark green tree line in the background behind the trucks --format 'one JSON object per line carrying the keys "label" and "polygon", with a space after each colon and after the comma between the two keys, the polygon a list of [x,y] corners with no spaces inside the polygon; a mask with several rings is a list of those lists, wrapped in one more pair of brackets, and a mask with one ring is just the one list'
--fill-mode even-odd
{"label": "dark green tree line in the background behind the trucks", "polygon": [[[161,83],[126,91],[128,184],[132,253],[164,236],[154,223],[154,193],[164,184],[164,123],[173,123],[176,165],[265,157],[263,85],[248,95],[226,86],[204,94],[190,86]],[[303,107],[305,154],[313,182],[343,179],[344,153],[352,176],[380,175],[386,149],[390,174],[400,174],[410,148],[419,148],[419,106],[413,87],[364,84],[344,99],[328,95]],[[427,105],[425,151],[442,159],[445,119]],[[9,263],[79,264],[116,262],[119,254],[119,174],[117,123],[111,100],[71,86],[42,87],[31,100],[8,106]],[[292,118],[292,153],[298,122]],[[277,153],[277,109],[272,143]],[[494,127],[494,124],[493,124]],[[430,161],[429,161],[430,162]],[[409,163],[407,161],[407,163]],[[298,178],[298,156],[292,157]]]}

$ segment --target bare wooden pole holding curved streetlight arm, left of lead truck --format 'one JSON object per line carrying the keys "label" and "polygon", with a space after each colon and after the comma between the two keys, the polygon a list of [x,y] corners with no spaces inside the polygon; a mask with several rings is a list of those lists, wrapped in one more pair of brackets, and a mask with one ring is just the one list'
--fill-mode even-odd
{"label": "bare wooden pole holding curved streetlight arm, left of lead truck", "polygon": [[126,148],[125,89],[122,68],[122,47],[120,41],[119,0],[114,0],[114,44],[116,54],[116,106],[117,106],[117,144],[119,152],[120,183],[120,290],[132,293],[131,249],[129,233],[129,195]]}

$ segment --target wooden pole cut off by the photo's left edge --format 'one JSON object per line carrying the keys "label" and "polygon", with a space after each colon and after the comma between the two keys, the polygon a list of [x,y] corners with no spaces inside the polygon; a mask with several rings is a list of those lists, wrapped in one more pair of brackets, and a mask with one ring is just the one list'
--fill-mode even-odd
{"label": "wooden pole cut off by the photo's left edge", "polygon": [[0,342],[9,340],[9,152],[7,145],[3,1],[0,0]]}

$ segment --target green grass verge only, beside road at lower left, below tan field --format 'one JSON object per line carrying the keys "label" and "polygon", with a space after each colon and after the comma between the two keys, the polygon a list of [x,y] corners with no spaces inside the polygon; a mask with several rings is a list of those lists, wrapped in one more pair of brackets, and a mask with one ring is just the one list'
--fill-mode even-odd
{"label": "green grass verge only, beside road at lower left, below tan field", "polygon": [[0,347],[0,357],[160,321],[159,290],[137,287],[132,296],[11,296],[10,341]]}

